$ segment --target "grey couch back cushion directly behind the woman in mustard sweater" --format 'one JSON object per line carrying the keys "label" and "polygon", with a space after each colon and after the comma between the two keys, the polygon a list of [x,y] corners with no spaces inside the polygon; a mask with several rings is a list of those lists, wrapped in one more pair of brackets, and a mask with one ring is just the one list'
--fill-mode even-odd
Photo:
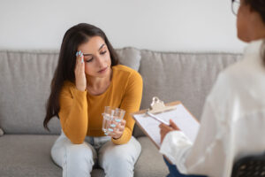
{"label": "grey couch back cushion directly behind the woman in mustard sweater", "polygon": [[[120,62],[134,70],[140,50],[117,50]],[[5,134],[59,134],[60,122],[51,119],[49,133],[42,126],[57,51],[0,51],[0,127]]]}

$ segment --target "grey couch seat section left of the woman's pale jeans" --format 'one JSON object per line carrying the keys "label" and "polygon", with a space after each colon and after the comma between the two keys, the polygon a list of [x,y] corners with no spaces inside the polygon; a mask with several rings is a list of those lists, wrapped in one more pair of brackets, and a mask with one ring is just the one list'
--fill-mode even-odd
{"label": "grey couch seat section left of the woman's pale jeans", "polygon": [[1,176],[62,176],[50,158],[57,135],[4,135],[0,138]]}

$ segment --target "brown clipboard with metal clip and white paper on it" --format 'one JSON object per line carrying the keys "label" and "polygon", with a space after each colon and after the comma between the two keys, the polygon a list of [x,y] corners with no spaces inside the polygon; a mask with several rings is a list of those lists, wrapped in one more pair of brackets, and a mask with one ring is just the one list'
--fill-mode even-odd
{"label": "brown clipboard with metal clip and white paper on it", "polygon": [[171,102],[163,104],[157,96],[153,97],[150,108],[132,113],[136,124],[144,132],[145,135],[160,149],[160,128],[161,122],[169,122],[172,119],[192,142],[195,141],[200,128],[200,123],[191,112],[180,102]]}

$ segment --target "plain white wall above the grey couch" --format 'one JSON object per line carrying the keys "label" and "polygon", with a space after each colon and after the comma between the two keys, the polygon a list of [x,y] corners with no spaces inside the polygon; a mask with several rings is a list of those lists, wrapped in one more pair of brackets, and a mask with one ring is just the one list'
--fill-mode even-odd
{"label": "plain white wall above the grey couch", "polygon": [[79,22],[115,48],[240,52],[231,0],[0,0],[0,50],[58,50]]}

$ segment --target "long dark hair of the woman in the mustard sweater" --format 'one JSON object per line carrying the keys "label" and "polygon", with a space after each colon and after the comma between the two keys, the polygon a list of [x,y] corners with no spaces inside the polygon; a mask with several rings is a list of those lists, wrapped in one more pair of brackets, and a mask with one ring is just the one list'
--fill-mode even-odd
{"label": "long dark hair of the woman in the mustard sweater", "polygon": [[57,69],[54,73],[50,84],[50,95],[46,104],[46,116],[43,121],[43,126],[49,130],[49,120],[54,116],[58,118],[60,111],[59,96],[63,88],[64,81],[75,82],[74,68],[76,63],[76,52],[80,44],[88,42],[89,38],[93,36],[100,36],[106,43],[110,51],[111,66],[118,64],[117,53],[111,46],[107,36],[104,32],[93,25],[80,23],[68,29],[64,35],[59,53]]}

